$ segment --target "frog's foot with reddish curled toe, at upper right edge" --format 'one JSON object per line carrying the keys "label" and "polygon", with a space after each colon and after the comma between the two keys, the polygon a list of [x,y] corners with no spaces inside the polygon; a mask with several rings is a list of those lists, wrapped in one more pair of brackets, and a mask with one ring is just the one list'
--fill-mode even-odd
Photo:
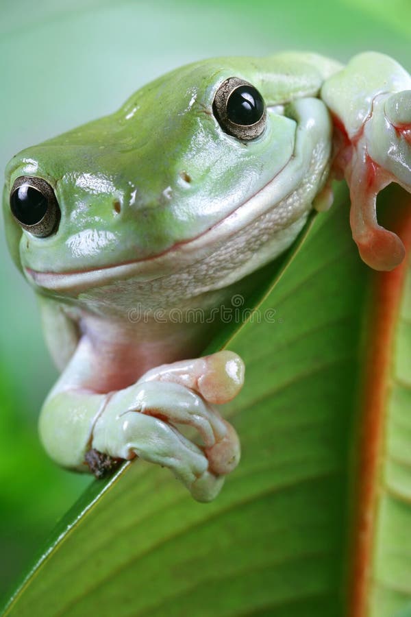
{"label": "frog's foot with reddish curled toe, at upper right edge", "polygon": [[350,223],[362,259],[377,270],[399,265],[399,237],[377,223],[377,195],[391,182],[411,192],[411,90],[378,95],[360,132],[350,140],[345,167],[350,187]]}

